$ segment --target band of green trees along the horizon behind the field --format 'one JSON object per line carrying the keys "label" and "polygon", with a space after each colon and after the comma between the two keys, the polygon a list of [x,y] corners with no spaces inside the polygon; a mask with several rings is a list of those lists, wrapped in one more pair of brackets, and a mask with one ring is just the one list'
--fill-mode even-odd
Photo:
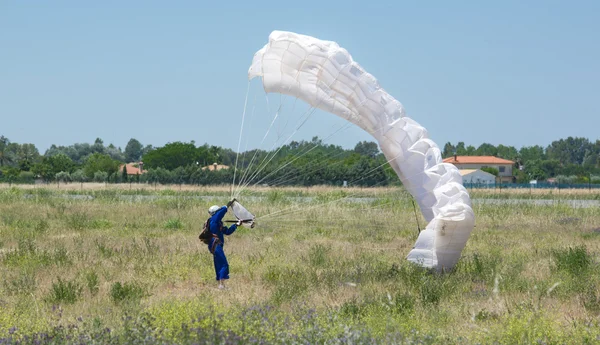
{"label": "band of green trees along the horizon behind the field", "polygon": [[[517,182],[557,178],[564,183],[600,183],[600,140],[560,139],[547,147],[494,146],[475,148],[446,143],[444,158],[452,155],[496,156],[515,162]],[[143,162],[143,173],[130,175],[124,163]],[[213,170],[213,163],[226,169]],[[233,167],[237,169],[233,169]],[[162,147],[129,140],[124,149],[94,143],[52,145],[40,154],[34,144],[11,142],[0,136],[0,182],[106,182],[180,183],[269,186],[400,184],[398,177],[375,142],[361,141],[353,149],[325,144],[318,137],[292,141],[273,150],[250,150],[237,154],[231,149],[191,142],[170,142]]]}

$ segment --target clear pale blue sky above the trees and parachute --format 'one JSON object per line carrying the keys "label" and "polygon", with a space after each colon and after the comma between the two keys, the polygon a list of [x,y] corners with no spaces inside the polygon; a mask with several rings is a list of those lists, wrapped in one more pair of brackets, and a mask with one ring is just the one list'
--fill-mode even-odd
{"label": "clear pale blue sky above the trees and parachute", "polygon": [[[1,1],[0,134],[42,153],[96,137],[236,149],[252,57],[288,30],[337,41],[440,147],[596,140],[598,13],[598,1]],[[250,84],[247,115],[266,115],[261,92]],[[316,113],[294,139],[339,123]],[[328,142],[360,140],[350,128]]]}

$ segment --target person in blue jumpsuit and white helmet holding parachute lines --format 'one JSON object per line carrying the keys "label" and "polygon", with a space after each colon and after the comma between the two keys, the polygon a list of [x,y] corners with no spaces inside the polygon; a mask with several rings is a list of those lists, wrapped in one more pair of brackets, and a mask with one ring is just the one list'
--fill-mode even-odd
{"label": "person in blue jumpsuit and white helmet holding parachute lines", "polygon": [[223,244],[225,243],[223,235],[229,236],[233,234],[237,227],[242,225],[241,220],[232,224],[229,228],[223,225],[223,217],[234,201],[235,199],[231,199],[227,205],[221,207],[217,205],[211,206],[208,209],[210,218],[204,223],[204,229],[199,236],[200,240],[208,245],[208,250],[213,255],[215,274],[219,289],[224,289],[225,285],[223,283],[226,279],[229,279],[229,263],[227,262],[227,257],[223,251]]}

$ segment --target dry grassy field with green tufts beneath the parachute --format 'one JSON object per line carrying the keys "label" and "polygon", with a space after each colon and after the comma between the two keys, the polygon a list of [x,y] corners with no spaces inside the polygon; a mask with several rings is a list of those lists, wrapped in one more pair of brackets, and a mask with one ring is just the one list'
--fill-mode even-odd
{"label": "dry grassy field with green tufts beneath the parachute", "polygon": [[402,189],[255,189],[218,290],[197,236],[229,187],[0,186],[0,344],[598,343],[600,210],[477,199],[600,198],[528,192],[472,191],[476,228],[441,275],[404,259]]}

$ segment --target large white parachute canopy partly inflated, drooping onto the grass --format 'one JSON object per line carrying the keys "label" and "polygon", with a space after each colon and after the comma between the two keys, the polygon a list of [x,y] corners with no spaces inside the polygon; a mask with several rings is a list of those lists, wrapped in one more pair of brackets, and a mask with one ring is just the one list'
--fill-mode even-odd
{"label": "large white parachute canopy partly inflated, drooping onto the grass", "polygon": [[273,31],[254,55],[248,78],[255,77],[267,93],[299,98],[372,135],[429,222],[407,259],[437,270],[455,266],[475,222],[461,175],[348,51],[332,41]]}

